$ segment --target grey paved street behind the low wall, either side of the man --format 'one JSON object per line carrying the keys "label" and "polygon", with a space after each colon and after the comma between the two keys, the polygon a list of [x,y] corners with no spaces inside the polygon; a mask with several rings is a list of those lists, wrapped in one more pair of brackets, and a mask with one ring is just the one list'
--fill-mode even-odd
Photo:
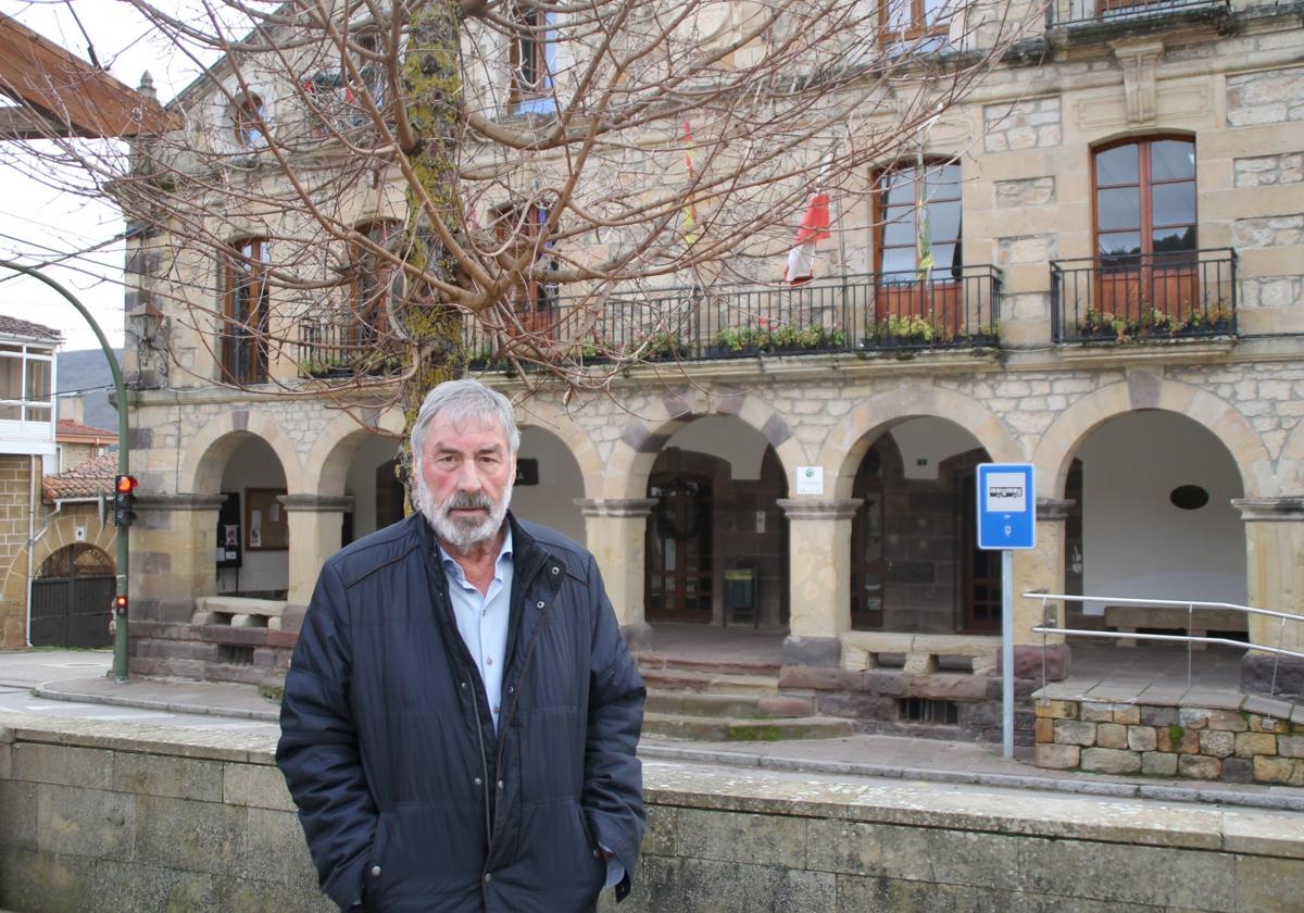
{"label": "grey paved street behind the low wall, either side of the man", "polygon": [[[78,716],[184,728],[276,732],[276,707],[252,685],[189,680],[108,677],[107,651],[0,652],[0,708],[46,716]],[[1111,672],[1114,672],[1111,669]],[[1093,673],[1094,674],[1094,673]],[[1183,666],[1184,677],[1184,666]],[[1090,676],[1082,680],[1090,682]],[[751,766],[819,773],[898,777],[988,786],[1153,797],[1304,811],[1304,790],[1153,777],[1086,776],[1047,771],[1029,762],[1030,749],[1003,758],[1000,746],[892,736],[793,742],[675,742],[644,740],[645,758],[683,763]]]}

